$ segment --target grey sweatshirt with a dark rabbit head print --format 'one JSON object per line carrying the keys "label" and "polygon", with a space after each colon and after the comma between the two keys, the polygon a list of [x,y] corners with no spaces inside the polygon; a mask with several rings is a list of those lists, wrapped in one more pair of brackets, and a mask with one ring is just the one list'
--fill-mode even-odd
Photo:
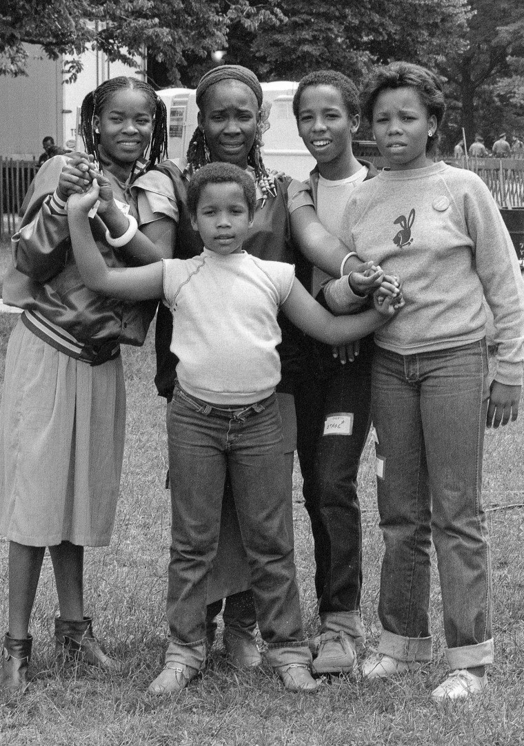
{"label": "grey sweatshirt with a dark rabbit head print", "polygon": [[[522,383],[524,282],[511,236],[476,174],[443,162],[382,171],[349,198],[340,238],[404,283],[405,307],[375,332],[379,346],[408,355],[482,339],[485,295],[499,345],[496,380]],[[343,280],[325,286],[334,313],[354,306],[347,288]]]}

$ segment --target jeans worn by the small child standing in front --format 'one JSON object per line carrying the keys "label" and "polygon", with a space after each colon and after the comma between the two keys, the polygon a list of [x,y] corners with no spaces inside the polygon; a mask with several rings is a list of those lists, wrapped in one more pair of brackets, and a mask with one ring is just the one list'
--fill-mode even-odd
{"label": "jeans worn by the small child standing in front", "polygon": [[219,536],[226,468],[269,648],[302,647],[302,618],[287,527],[281,420],[275,395],[213,407],[175,389],[168,419],[172,545],[167,618],[181,645],[205,642],[208,574]]}

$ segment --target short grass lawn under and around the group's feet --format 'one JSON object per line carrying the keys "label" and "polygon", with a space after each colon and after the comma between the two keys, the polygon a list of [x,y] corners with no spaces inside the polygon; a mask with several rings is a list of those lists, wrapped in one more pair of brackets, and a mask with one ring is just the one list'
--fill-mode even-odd
{"label": "short grass lawn under and around the group's feet", "polygon": [[[6,247],[2,244],[0,254]],[[0,256],[3,261],[3,257]],[[4,266],[4,264],[0,264]],[[0,269],[1,271],[1,269]],[[1,276],[0,276],[1,279]],[[0,379],[16,317],[0,314]],[[163,401],[152,383],[153,344],[125,348],[128,427],[119,510],[110,547],[87,549],[87,613],[122,674],[53,668],[53,618],[57,614],[52,565],[44,560],[31,632],[32,683],[25,696],[0,709],[1,746],[376,746],[524,743],[524,416],[498,432],[488,430],[484,502],[493,541],[496,664],[490,689],[467,704],[436,706],[429,692],[446,672],[440,592],[432,592],[434,661],[417,674],[390,682],[340,677],[316,695],[292,695],[269,668],[249,674],[228,668],[219,641],[202,681],[174,698],[152,698],[146,688],[166,648],[166,566],[169,495],[163,489],[166,436]],[[523,408],[524,415],[524,408]],[[374,459],[368,443],[361,467],[364,508],[362,612],[368,650],[376,645],[382,554],[375,507]],[[313,552],[308,515],[295,473],[296,564],[305,628],[316,631]],[[0,539],[0,615],[7,629],[7,542]]]}

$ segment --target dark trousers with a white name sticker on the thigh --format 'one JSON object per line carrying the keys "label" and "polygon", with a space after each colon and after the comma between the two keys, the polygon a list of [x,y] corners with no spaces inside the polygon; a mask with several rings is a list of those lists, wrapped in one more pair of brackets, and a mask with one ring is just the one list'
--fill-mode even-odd
{"label": "dark trousers with a white name sticker on the thigh", "polygon": [[372,336],[353,363],[316,345],[313,374],[295,395],[298,454],[311,520],[322,631],[336,628],[364,643],[358,467],[370,425]]}

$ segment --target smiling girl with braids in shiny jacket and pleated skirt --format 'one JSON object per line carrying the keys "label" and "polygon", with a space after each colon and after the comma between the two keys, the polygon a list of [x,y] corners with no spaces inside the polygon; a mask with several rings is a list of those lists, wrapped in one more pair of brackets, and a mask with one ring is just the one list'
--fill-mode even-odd
{"label": "smiling girl with braids in shiny jacket and pleated skirt", "polygon": [[129,187],[166,153],[166,109],[148,84],[114,78],[84,99],[81,131],[90,157],[58,155],[38,172],[3,287],[4,302],[23,313],[7,346],[0,410],[0,531],[10,541],[2,689],[28,686],[29,620],[46,547],[60,607],[58,661],[119,668],[84,615],[84,546],[110,542],[125,429],[119,345],[143,344],[155,304],[87,289],[71,250],[66,200],[90,184],[95,158],[116,195],[90,221],[99,250],[110,266],[125,266],[126,255],[149,263],[153,247],[134,236]]}

